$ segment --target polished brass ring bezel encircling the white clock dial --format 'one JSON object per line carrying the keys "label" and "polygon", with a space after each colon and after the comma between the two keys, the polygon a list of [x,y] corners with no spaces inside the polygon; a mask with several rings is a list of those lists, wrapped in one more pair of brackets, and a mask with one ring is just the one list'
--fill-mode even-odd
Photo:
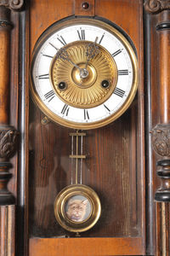
{"label": "polished brass ring bezel encircling the white clock dial", "polygon": [[[94,122],[89,122],[89,123],[79,123],[79,122],[74,122],[70,121],[67,119],[63,119],[62,117],[59,117],[56,113],[53,113],[51,110],[48,109],[48,107],[42,102],[42,99],[40,96],[37,94],[37,90],[35,88],[35,84],[33,81],[32,77],[32,69],[34,66],[34,62],[37,56],[37,53],[39,49],[41,48],[42,44],[46,42],[46,40],[54,34],[54,32],[59,31],[61,28],[67,27],[67,26],[72,26],[72,25],[94,25],[94,26],[99,26],[106,31],[111,32],[118,38],[124,47],[127,49],[128,55],[130,56],[130,59],[132,61],[132,67],[133,67],[133,84],[130,90],[129,95],[127,96],[126,101],[122,104],[121,108],[118,108],[115,113],[112,113],[105,119],[100,119]],[[55,23],[53,26],[50,26],[46,32],[42,33],[42,36],[37,40],[37,44],[35,45],[35,48],[32,53],[32,58],[31,58],[31,95],[33,97],[33,101],[37,104],[37,107],[42,110],[42,112],[52,121],[64,125],[66,127],[74,128],[74,129],[82,129],[82,130],[88,130],[88,129],[95,129],[99,128],[104,125],[108,125],[117,118],[119,118],[122,113],[124,113],[127,108],[130,106],[130,104],[133,102],[133,98],[136,94],[136,90],[138,87],[138,61],[137,57],[135,55],[135,52],[133,50],[132,45],[128,42],[127,38],[122,34],[122,32],[119,32],[114,26],[111,26],[101,20],[95,20],[95,19],[88,19],[88,18],[77,18],[77,19],[71,19],[71,20],[64,20],[59,23]]]}

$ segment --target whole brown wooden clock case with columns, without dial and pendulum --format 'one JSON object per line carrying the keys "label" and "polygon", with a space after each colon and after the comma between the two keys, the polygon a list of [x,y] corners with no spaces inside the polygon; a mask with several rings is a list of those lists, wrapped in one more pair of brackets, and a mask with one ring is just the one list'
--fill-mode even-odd
{"label": "whole brown wooden clock case with columns, without dial and pendulum", "polygon": [[[102,212],[74,234],[54,218],[55,196],[71,183],[73,130],[44,119],[29,74],[42,32],[82,16],[110,20],[132,40],[139,87],[119,119],[86,131],[82,181]],[[169,255],[169,16],[165,0],[0,1],[2,256]]]}

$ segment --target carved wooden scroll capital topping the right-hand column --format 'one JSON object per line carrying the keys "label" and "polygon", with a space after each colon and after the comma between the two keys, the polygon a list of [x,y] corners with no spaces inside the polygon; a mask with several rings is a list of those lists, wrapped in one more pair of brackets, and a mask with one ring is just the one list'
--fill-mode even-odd
{"label": "carved wooden scroll capital topping the right-hand column", "polygon": [[150,14],[157,14],[163,10],[170,10],[170,0],[146,0],[144,9]]}

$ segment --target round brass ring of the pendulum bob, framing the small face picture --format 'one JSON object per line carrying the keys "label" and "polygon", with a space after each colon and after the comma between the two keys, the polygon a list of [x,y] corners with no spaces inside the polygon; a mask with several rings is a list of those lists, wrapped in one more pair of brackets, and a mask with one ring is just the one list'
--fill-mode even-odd
{"label": "round brass ring of the pendulum bob, framing the small face picture", "polygon": [[[86,198],[89,203],[88,217],[81,221],[69,218],[65,210],[68,201],[77,196],[82,196],[83,199]],[[54,202],[55,218],[65,230],[71,232],[84,232],[91,229],[99,220],[100,213],[101,205],[99,196],[93,189],[81,184],[71,185],[61,190]]]}

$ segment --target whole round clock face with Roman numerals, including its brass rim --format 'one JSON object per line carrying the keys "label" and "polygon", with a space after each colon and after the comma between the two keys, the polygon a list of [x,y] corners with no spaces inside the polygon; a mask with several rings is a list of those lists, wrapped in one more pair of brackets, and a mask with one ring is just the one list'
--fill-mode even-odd
{"label": "whole round clock face with Roman numerals, including its brass rim", "polygon": [[56,23],[42,34],[31,62],[31,93],[49,119],[93,129],[122,115],[137,90],[132,46],[100,20]]}

